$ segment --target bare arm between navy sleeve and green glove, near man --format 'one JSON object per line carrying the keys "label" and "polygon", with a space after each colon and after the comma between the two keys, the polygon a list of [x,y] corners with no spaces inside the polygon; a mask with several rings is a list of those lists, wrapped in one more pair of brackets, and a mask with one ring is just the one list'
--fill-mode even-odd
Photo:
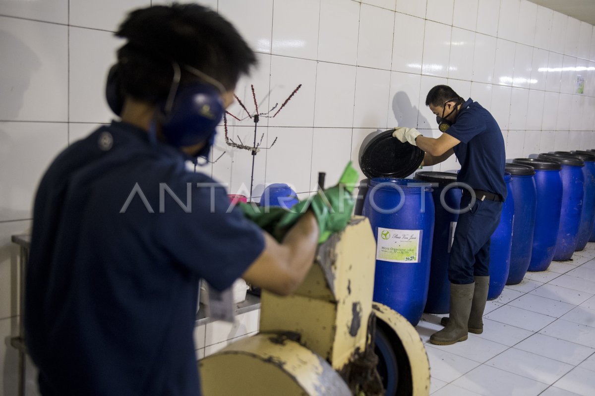
{"label": "bare arm between navy sleeve and green glove, near man", "polygon": [[308,273],[318,246],[318,223],[306,212],[277,243],[264,232],[265,248],[242,275],[247,282],[281,296],[288,296]]}

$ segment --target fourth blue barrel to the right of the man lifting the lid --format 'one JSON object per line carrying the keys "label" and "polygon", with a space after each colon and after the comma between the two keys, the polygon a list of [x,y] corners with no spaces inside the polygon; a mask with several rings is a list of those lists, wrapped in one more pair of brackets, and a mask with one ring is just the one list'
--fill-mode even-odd
{"label": "fourth blue barrel to the right of the man lifting the lid", "polygon": [[572,258],[577,248],[578,227],[581,224],[584,194],[584,162],[580,159],[562,154],[541,153],[540,159],[558,161],[562,165],[562,210],[560,211],[560,227],[556,237],[554,261]]}

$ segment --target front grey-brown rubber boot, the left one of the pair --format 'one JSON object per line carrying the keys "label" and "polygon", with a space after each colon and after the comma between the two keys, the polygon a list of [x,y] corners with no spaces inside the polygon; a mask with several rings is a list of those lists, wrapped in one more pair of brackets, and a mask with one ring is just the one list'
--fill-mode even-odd
{"label": "front grey-brown rubber boot, the left one of the pair", "polygon": [[467,339],[474,288],[475,282],[468,285],[450,284],[450,318],[445,328],[430,336],[432,344],[450,345]]}

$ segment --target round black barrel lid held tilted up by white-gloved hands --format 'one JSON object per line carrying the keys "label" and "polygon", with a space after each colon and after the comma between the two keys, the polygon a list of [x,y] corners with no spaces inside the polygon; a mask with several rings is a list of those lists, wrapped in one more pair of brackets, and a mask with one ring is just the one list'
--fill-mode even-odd
{"label": "round black barrel lid held tilted up by white-gloved hands", "polygon": [[394,130],[369,134],[359,149],[359,167],[368,178],[403,178],[424,161],[424,152],[393,137]]}

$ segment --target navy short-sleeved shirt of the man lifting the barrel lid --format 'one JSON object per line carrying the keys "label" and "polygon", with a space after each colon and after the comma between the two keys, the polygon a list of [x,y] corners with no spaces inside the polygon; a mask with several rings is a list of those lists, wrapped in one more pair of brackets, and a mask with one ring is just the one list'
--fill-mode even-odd
{"label": "navy short-sleeved shirt of the man lifting the barrel lid", "polygon": [[490,112],[469,98],[446,133],[461,141],[453,147],[461,164],[457,181],[506,199],[504,138]]}

